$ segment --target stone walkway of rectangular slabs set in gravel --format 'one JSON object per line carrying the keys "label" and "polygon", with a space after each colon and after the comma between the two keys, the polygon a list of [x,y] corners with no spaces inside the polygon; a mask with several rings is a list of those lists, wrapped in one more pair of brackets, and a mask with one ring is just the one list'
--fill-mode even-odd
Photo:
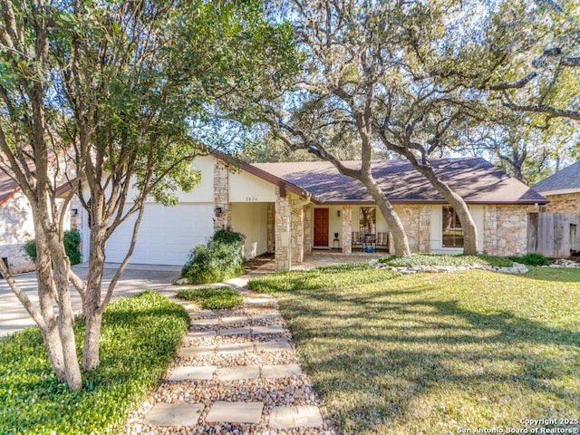
{"label": "stone walkway of rectangular slabs set in gravel", "polygon": [[[258,272],[259,273],[259,272]],[[220,312],[184,304],[189,332],[127,434],[316,434],[334,430],[302,372],[275,299],[230,285],[244,304]]]}

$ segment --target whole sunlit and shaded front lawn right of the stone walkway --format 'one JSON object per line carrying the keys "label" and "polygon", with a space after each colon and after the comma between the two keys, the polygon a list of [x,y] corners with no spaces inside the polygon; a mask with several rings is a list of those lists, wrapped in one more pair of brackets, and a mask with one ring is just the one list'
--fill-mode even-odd
{"label": "whole sunlit and shaded front lawn right of the stone walkway", "polygon": [[275,293],[340,432],[507,433],[579,417],[580,270],[311,274],[250,286]]}

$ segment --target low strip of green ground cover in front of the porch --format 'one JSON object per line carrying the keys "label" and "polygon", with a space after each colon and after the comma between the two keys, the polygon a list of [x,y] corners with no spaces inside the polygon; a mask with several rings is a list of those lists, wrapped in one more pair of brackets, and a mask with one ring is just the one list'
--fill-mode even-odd
{"label": "low strip of green ground cover in front of the porch", "polygon": [[247,288],[260,293],[338,288],[382,282],[399,275],[391,270],[369,269],[368,263],[362,262],[266,275],[249,281]]}

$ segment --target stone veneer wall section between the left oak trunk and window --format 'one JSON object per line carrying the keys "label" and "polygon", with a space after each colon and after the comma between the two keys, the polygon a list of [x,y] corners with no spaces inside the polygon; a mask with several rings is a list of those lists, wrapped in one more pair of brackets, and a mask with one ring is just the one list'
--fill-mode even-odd
{"label": "stone veneer wall section between the left oak trunk and window", "polygon": [[[430,206],[425,204],[393,204],[407,233],[411,252],[430,251]],[[392,239],[392,237],[390,236]],[[390,249],[393,246],[390,243]]]}

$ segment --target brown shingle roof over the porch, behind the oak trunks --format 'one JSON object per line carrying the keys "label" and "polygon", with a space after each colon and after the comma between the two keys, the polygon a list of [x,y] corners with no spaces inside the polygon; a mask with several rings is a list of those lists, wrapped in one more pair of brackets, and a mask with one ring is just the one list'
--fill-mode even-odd
{"label": "brown shingle roof over the porch, behind the oak trunks", "polygon": [[[356,161],[345,164],[360,166]],[[339,174],[327,161],[255,163],[253,166],[305,189],[318,202],[374,202],[360,181]],[[432,160],[431,166],[451,189],[471,204],[548,202],[483,159]],[[372,175],[393,203],[447,202],[407,160],[373,160]]]}

